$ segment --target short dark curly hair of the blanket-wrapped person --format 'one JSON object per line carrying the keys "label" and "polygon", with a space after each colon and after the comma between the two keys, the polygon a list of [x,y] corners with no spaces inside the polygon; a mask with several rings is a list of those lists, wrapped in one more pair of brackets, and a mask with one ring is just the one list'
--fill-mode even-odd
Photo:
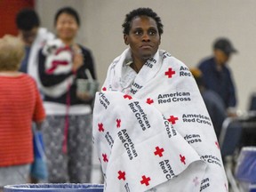
{"label": "short dark curly hair of the blanket-wrapped person", "polygon": [[122,25],[122,27],[124,28],[123,33],[125,35],[129,34],[131,29],[131,22],[137,16],[148,16],[153,20],[156,20],[156,25],[157,25],[159,35],[161,36],[164,33],[164,29],[163,29],[164,25],[162,24],[162,21],[160,17],[158,17],[158,15],[156,14],[156,12],[153,12],[153,10],[150,8],[138,8],[125,15],[125,20]]}

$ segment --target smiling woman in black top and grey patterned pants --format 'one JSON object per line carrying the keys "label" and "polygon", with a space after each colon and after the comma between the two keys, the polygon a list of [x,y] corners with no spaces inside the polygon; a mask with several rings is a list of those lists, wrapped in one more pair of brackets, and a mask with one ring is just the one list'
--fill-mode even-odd
{"label": "smiling woman in black top and grey patterned pants", "polygon": [[61,8],[54,26],[58,38],[45,44],[39,53],[49,182],[90,182],[94,95],[77,94],[76,82],[95,79],[92,53],[75,41],[80,26],[76,10]]}

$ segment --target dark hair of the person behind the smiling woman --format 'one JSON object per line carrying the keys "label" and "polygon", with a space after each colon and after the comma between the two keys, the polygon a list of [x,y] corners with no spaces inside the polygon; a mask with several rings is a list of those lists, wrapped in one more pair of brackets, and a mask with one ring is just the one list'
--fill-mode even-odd
{"label": "dark hair of the person behind the smiling woman", "polygon": [[23,9],[16,15],[16,26],[21,30],[31,30],[40,26],[40,20],[36,11],[32,9]]}

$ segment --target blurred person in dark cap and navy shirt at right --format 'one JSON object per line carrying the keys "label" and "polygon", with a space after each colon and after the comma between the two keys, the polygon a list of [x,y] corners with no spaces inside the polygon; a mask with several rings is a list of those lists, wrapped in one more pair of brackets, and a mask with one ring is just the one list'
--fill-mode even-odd
{"label": "blurred person in dark cap and navy shirt at right", "polygon": [[220,95],[228,116],[236,116],[236,87],[227,63],[237,51],[228,38],[218,38],[212,48],[213,56],[201,61],[198,68],[204,75],[205,87]]}

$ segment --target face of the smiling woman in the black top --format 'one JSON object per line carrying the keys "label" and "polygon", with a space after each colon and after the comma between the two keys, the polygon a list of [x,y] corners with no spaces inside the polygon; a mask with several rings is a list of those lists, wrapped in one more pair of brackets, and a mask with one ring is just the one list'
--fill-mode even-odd
{"label": "face of the smiling woman in the black top", "polygon": [[78,24],[75,17],[68,13],[61,13],[56,20],[55,25],[57,36],[63,41],[70,41],[76,37],[78,31]]}

